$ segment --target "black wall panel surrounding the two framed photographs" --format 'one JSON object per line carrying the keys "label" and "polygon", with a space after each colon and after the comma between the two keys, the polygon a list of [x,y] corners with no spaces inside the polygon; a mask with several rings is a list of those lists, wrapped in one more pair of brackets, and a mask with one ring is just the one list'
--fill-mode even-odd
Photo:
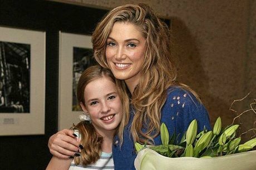
{"label": "black wall panel surrounding the two framed photographs", "polygon": [[46,168],[48,138],[58,125],[58,31],[91,34],[106,12],[51,1],[0,0],[0,26],[46,31],[45,135],[0,136],[0,169]]}

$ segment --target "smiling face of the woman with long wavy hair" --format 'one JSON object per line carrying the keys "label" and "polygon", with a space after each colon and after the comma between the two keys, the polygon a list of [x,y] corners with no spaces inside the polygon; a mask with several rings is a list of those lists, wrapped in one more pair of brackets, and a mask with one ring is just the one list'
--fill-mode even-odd
{"label": "smiling face of the woman with long wavy hair", "polygon": [[129,22],[116,22],[107,38],[107,63],[115,77],[125,80],[128,86],[139,83],[145,43],[139,29]]}

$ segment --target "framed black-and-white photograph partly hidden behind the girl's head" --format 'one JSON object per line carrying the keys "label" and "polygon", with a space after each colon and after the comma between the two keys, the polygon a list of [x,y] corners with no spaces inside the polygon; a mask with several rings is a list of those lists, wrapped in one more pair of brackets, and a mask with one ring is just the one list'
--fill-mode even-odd
{"label": "framed black-and-white photograph partly hidden behind the girl's head", "polygon": [[82,111],[77,102],[76,88],[82,72],[96,64],[92,56],[90,35],[60,32],[59,130],[80,121],[78,117]]}

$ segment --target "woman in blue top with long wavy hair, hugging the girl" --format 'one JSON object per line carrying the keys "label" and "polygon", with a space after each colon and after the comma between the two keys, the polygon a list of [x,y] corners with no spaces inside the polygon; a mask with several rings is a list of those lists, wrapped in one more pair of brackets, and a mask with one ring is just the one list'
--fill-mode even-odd
{"label": "woman in blue top with long wavy hair, hugging the girl", "polygon": [[[160,145],[160,125],[169,133],[186,131],[196,119],[198,131],[210,129],[209,116],[196,93],[176,83],[176,70],[170,54],[168,27],[146,4],[128,4],[112,9],[92,35],[94,56],[104,68],[120,79],[117,87],[128,89],[130,115],[124,135],[115,137],[112,149],[115,169],[135,169],[134,142]],[[129,117],[129,119],[128,119]],[[52,154],[65,157],[78,143],[66,130],[49,140]],[[62,138],[65,137],[65,140]],[[63,148],[63,143],[69,145]],[[75,146],[73,146],[75,145]]]}

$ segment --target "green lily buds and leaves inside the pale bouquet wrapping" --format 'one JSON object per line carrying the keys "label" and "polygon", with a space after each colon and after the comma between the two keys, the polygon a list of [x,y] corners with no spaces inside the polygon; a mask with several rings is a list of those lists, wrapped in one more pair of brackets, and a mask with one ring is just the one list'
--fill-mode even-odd
{"label": "green lily buds and leaves inside the pale bouquet wrapping", "polygon": [[176,141],[179,135],[176,136],[174,133],[169,139],[168,128],[162,123],[160,128],[162,145],[146,146],[136,142],[135,148],[137,152],[143,148],[150,148],[166,157],[199,158],[224,156],[253,150],[253,147],[256,146],[256,138],[240,144],[241,138],[236,137],[238,128],[239,125],[221,128],[221,119],[218,117],[213,131],[207,131],[204,128],[203,131],[197,133],[198,125],[196,120],[193,120],[178,143]]}

